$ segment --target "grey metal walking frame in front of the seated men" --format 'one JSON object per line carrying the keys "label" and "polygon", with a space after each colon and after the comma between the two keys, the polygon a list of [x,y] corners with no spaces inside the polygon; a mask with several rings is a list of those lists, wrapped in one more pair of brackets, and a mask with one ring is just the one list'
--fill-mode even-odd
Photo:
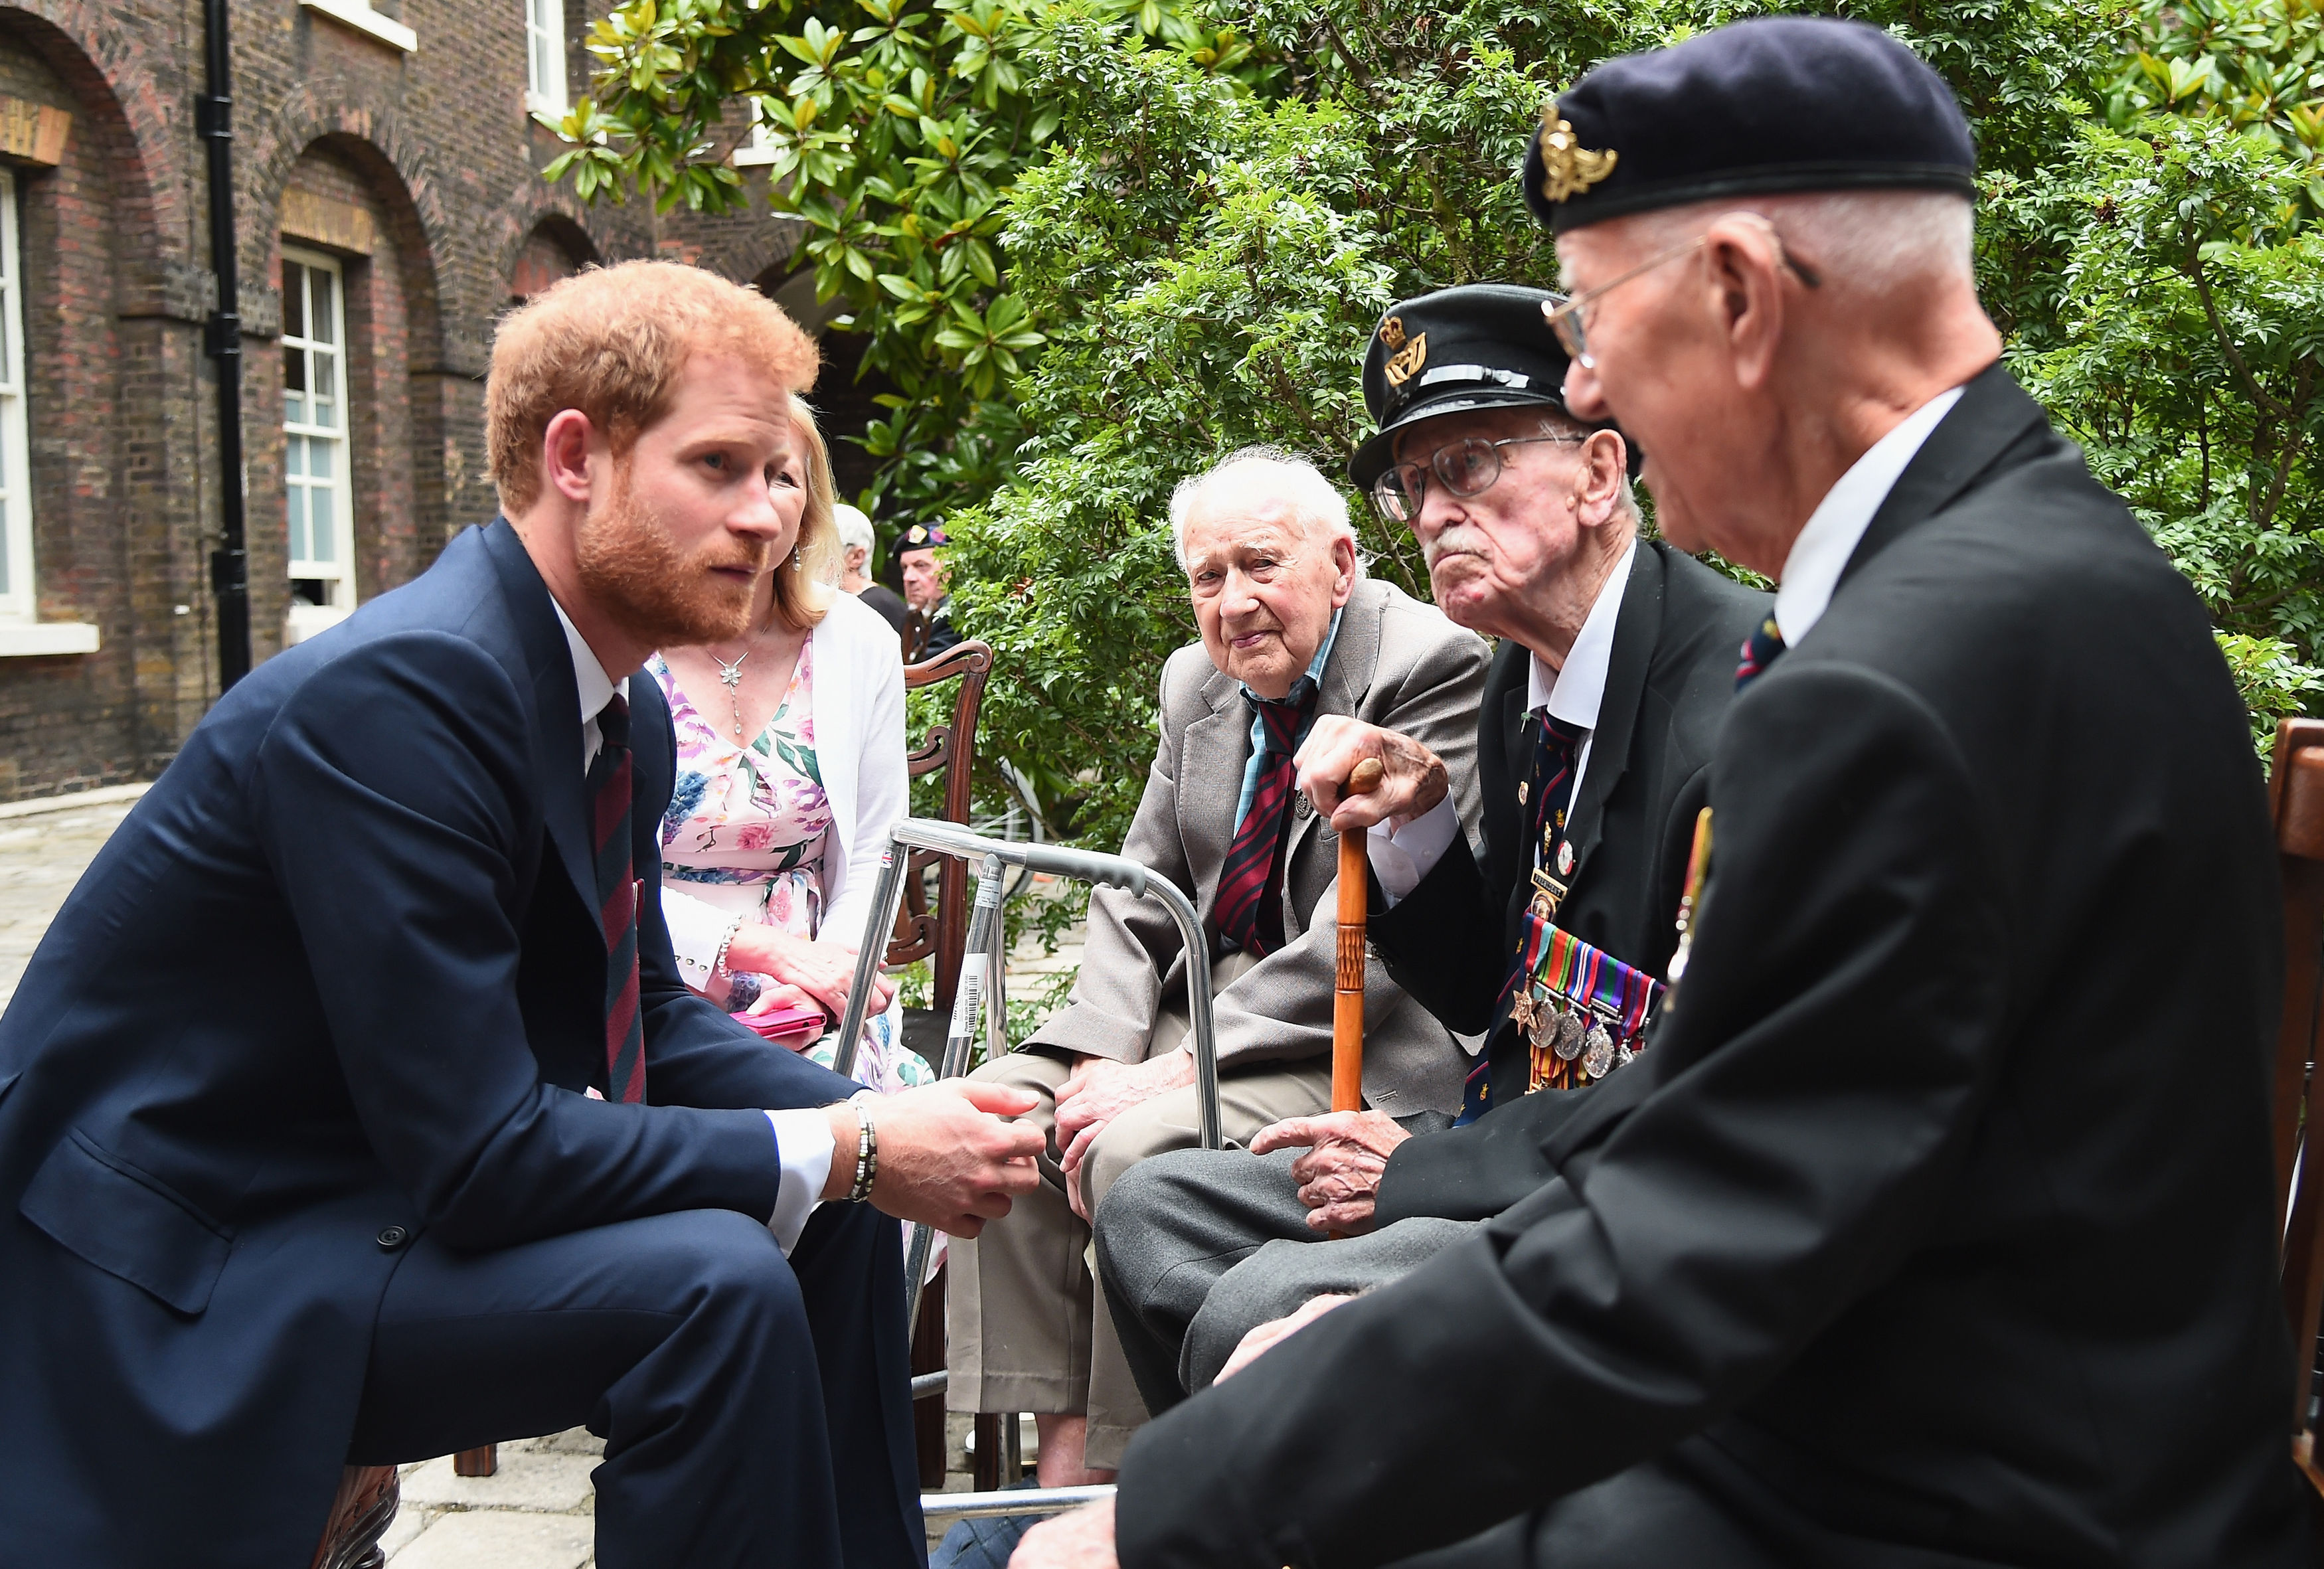
{"label": "grey metal walking frame in front of the seated men", "polygon": [[[1009,1051],[1009,995],[1002,979],[1009,958],[1009,934],[1002,923],[1002,869],[1023,867],[1025,872],[1048,872],[1050,876],[1069,876],[1081,883],[1127,888],[1136,897],[1160,900],[1178,925],[1178,937],[1185,944],[1185,1013],[1188,1039],[1195,1044],[1199,1141],[1206,1151],[1225,1144],[1218,1125],[1218,1037],[1211,1025],[1211,946],[1204,939],[1202,918],[1195,914],[1192,900],[1167,876],[1155,876],[1125,855],[1071,851],[1057,844],[985,839],[960,823],[939,818],[904,818],[888,830],[888,851],[881,855],[878,881],[871,886],[871,925],[865,927],[867,941],[855,955],[848,1011],[839,1025],[839,1044],[832,1053],[832,1067],[841,1076],[855,1076],[855,1048],[862,1041],[865,1016],[871,1011],[871,979],[878,974],[885,951],[885,941],[869,941],[869,934],[895,930],[897,909],[904,902],[904,865],[909,855],[899,851],[934,851],[937,855],[976,862],[976,907],[969,914],[967,953],[960,967],[960,990],[953,995],[953,1023],[944,1034],[939,1079],[960,1079],[969,1072],[969,1048],[976,1041],[978,1009],[985,1013],[985,1058],[995,1060]],[[920,1283],[927,1278],[927,1255],[932,1248],[934,1230],[913,1225],[911,1246],[904,1255],[906,1325],[920,1323]],[[911,1397],[925,1399],[927,1395],[937,1395],[948,1381],[948,1371],[920,1374],[911,1381]],[[923,1492],[920,1513],[930,1518],[1050,1516],[1104,1497],[1113,1497],[1113,1488]]]}

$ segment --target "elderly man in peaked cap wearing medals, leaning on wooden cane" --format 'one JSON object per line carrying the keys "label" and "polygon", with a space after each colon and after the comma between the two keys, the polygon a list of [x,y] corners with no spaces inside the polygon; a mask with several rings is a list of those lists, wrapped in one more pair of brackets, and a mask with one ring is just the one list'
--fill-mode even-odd
{"label": "elderly man in peaked cap wearing medals, leaning on wooden cane", "polygon": [[1483,865],[1418,739],[1325,716],[1299,751],[1313,781],[1387,767],[1369,934],[1408,995],[1485,1037],[1462,1120],[1301,1116],[1248,1153],[1127,1172],[1097,1260],[1150,1411],[1206,1388],[1246,1337],[1406,1274],[1538,1188],[1543,1132],[1643,1048],[1736,649],[1769,600],[1638,539],[1620,430],[1564,407],[1557,305],[1471,284],[1387,311],[1364,360],[1378,430],[1348,465],[1418,535],[1436,604],[1501,639],[1476,737]]}

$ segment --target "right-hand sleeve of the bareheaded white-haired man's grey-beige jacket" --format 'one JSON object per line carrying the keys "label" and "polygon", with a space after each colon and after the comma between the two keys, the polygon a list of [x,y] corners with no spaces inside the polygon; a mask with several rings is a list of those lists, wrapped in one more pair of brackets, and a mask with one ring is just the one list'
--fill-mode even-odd
{"label": "right-hand sleeve of the bareheaded white-haired man's grey-beige jacket", "polygon": [[[1429,639],[1406,669],[1390,672],[1385,681],[1376,676],[1362,704],[1369,723],[1408,735],[1446,760],[1462,818],[1462,832],[1455,834],[1446,858],[1462,855],[1466,846],[1459,841],[1476,832],[1476,709],[1483,690],[1485,642],[1441,623],[1439,637]],[[1334,848],[1325,851],[1325,844]],[[1336,839],[1318,839],[1318,853],[1336,855]],[[1306,930],[1218,995],[1218,1065],[1327,1055],[1336,979],[1339,879],[1334,876],[1306,911]],[[1376,1027],[1399,1000],[1401,990],[1390,969],[1367,965],[1364,1027]]]}

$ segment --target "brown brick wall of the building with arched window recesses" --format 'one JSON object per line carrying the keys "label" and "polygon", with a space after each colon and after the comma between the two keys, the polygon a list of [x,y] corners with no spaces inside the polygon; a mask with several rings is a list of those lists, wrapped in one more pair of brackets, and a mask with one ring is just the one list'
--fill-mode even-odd
{"label": "brown brick wall of the building with arched window recesses", "polygon": [[[404,53],[304,9],[235,0],[235,223],[253,653],[284,644],[284,228],[346,267],[358,590],[425,569],[493,514],[483,370],[511,298],[586,260],[669,256],[781,277],[795,225],[651,202],[583,209],[539,179],[560,146],[523,112],[523,0],[381,0]],[[581,93],[590,5],[567,0]],[[221,486],[202,323],[209,267],[200,0],[0,7],[0,98],[72,114],[53,167],[16,160],[40,618],[95,653],[0,655],[0,800],[167,765],[216,697],[209,551]],[[762,174],[751,172],[762,191]],[[7,628],[0,628],[5,637]]]}

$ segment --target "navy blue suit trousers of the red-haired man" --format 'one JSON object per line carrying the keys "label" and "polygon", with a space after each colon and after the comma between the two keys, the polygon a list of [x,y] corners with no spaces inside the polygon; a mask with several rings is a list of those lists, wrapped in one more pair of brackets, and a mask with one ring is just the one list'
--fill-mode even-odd
{"label": "navy blue suit trousers of the red-haired man", "polygon": [[732,1211],[456,1253],[381,1302],[349,1460],[588,1427],[597,1564],[927,1560],[895,1220],[825,1204],[786,1260]]}

